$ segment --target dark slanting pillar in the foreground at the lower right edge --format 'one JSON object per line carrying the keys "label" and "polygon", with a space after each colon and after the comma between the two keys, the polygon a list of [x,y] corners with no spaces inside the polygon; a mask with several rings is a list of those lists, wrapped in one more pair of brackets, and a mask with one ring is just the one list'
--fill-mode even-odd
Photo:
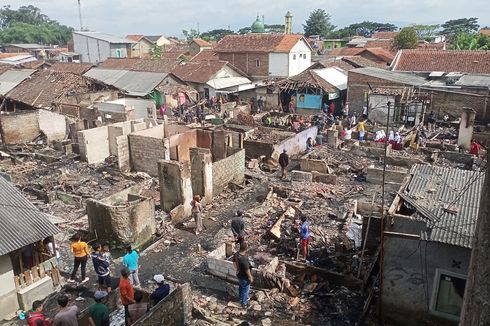
{"label": "dark slanting pillar in the foreground at the lower right edge", "polygon": [[[487,144],[490,139],[487,138]],[[461,326],[490,325],[490,151],[487,150],[487,172],[480,197],[480,212],[472,244],[470,268],[461,309]]]}

